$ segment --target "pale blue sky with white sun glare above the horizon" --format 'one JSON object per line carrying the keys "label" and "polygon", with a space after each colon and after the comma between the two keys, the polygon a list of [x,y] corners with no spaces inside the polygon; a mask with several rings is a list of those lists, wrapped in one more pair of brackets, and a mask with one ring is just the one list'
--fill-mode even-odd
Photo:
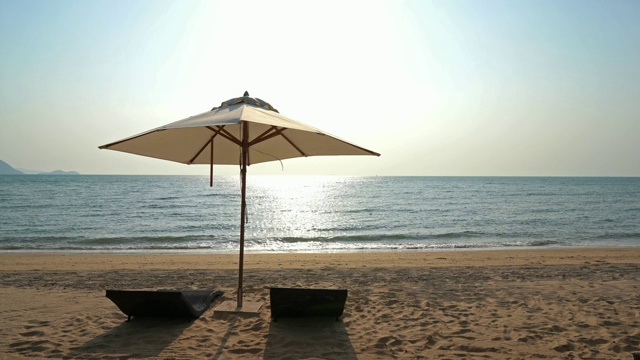
{"label": "pale blue sky with white sun glare above the horizon", "polygon": [[382,154],[250,174],[640,176],[638,19],[637,0],[0,0],[0,160],[208,175],[98,146],[248,90]]}

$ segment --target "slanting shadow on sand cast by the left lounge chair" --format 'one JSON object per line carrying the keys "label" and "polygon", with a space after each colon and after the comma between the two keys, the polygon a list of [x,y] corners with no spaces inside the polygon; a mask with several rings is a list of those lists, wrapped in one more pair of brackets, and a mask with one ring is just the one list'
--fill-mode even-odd
{"label": "slanting shadow on sand cast by the left lounge chair", "polygon": [[191,324],[193,321],[185,319],[134,319],[72,349],[68,357],[84,359],[104,354],[118,358],[159,356]]}

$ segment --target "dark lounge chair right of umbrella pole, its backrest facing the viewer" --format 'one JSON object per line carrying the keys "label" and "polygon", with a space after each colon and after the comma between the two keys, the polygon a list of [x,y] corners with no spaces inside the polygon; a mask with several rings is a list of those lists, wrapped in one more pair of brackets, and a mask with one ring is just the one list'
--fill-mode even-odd
{"label": "dark lounge chair right of umbrella pole, its backrest facing the viewer", "polygon": [[347,302],[347,290],[271,288],[271,318],[335,317],[340,320]]}

